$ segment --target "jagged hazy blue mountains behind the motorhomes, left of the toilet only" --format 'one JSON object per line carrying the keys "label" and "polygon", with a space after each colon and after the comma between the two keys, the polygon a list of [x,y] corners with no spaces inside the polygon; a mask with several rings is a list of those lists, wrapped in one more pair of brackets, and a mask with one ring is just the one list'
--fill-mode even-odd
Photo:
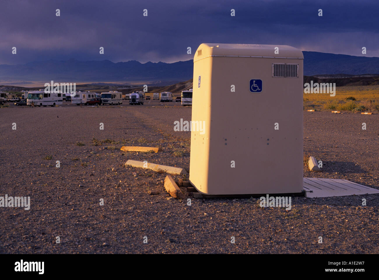
{"label": "jagged hazy blue mountains behind the motorhomes, left of the toilet only", "polygon": [[175,63],[139,63],[127,61],[113,63],[102,61],[36,61],[23,65],[0,65],[0,83],[6,84],[20,81],[50,81],[55,82],[112,82],[151,81],[157,84],[167,84],[192,78],[193,61],[178,61]]}

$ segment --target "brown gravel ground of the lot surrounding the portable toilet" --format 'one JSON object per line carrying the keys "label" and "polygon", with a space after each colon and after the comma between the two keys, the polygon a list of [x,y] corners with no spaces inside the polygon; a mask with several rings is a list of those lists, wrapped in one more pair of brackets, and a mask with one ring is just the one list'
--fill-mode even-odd
{"label": "brown gravel ground of the lot surrounding the portable toilet", "polygon": [[[0,208],[0,253],[379,253],[377,194],[292,197],[290,211],[261,208],[257,198],[188,206],[187,197],[169,199],[166,174],[124,166],[134,159],[189,169],[190,133],[173,131],[180,118],[190,120],[191,108],[0,108],[0,196],[31,199],[30,210]],[[323,161],[322,173],[304,167],[305,177],[378,188],[378,151],[379,115],[304,112],[304,155]]]}

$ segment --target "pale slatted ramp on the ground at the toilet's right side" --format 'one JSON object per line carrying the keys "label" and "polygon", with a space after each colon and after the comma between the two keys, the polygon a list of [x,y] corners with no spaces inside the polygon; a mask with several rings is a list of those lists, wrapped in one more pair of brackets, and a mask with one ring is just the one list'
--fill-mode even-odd
{"label": "pale slatted ramp on the ground at the toilet's right side", "polygon": [[345,179],[304,178],[303,188],[305,197],[379,194],[378,189],[363,186]]}

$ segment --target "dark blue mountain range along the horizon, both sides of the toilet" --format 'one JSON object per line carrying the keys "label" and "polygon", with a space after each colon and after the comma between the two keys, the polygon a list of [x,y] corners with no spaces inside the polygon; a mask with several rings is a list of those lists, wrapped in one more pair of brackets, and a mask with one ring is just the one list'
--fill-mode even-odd
{"label": "dark blue mountain range along the horizon, both sides of the toilet", "polygon": [[[304,54],[304,75],[319,78],[351,77],[370,73],[379,75],[379,58],[307,52]],[[322,74],[328,73],[328,74]],[[341,74],[345,73],[345,74]],[[23,65],[0,65],[0,83],[26,84],[28,81],[55,82],[123,82],[148,83],[164,86],[193,78],[193,60],[175,63],[139,63],[127,61],[113,63],[109,60],[36,61]]]}

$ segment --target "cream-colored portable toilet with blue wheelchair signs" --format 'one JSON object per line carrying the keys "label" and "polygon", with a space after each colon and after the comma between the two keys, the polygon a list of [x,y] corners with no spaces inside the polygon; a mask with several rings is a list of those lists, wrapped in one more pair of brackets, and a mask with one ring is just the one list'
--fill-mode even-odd
{"label": "cream-colored portable toilet with blue wheelchair signs", "polygon": [[201,44],[191,129],[189,180],[199,192],[302,192],[302,52],[287,45]]}

